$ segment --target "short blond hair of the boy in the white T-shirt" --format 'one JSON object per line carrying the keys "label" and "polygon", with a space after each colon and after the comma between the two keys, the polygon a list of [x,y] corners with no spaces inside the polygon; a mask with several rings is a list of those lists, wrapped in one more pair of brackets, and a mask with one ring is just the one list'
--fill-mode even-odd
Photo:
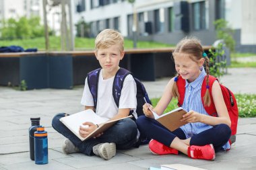
{"label": "short blond hair of the boy in the white T-shirt", "polygon": [[115,44],[119,44],[121,52],[124,50],[123,36],[116,30],[106,29],[100,32],[95,39],[95,50],[100,48],[108,48]]}

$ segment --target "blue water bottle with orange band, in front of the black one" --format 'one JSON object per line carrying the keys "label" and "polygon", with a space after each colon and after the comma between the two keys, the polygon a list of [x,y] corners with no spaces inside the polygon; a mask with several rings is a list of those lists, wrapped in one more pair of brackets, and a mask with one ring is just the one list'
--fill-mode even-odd
{"label": "blue water bottle with orange band, in front of the black one", "polygon": [[48,140],[44,126],[38,126],[34,132],[34,161],[40,165],[48,163]]}

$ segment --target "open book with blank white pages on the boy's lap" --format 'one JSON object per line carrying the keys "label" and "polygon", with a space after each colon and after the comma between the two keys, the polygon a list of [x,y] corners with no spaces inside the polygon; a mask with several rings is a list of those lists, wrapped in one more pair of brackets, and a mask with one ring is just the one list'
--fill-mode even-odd
{"label": "open book with blank white pages on the boy's lap", "polygon": [[[127,116],[125,118],[131,118],[132,116]],[[71,130],[79,139],[81,140],[86,140],[88,138],[91,138],[93,136],[96,136],[96,134],[99,134],[101,132],[104,132],[113,124],[117,123],[117,121],[125,119],[125,118],[120,118],[117,120],[110,120],[106,118],[102,118],[95,114],[94,111],[92,110],[84,110],[82,112],[78,112],[76,114],[71,114],[70,116],[66,116],[60,119],[60,121]],[[79,126],[82,126],[84,122],[92,122],[93,124],[99,124],[99,127],[96,128],[91,134],[86,136],[86,138],[83,138],[82,136],[79,135]]]}

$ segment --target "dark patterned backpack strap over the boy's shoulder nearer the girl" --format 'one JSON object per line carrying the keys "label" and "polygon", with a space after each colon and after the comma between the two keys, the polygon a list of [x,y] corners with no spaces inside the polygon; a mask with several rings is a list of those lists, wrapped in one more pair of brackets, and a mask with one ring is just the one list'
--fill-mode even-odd
{"label": "dark patterned backpack strap over the boy's shoulder nearer the girl", "polygon": [[132,73],[127,71],[127,69],[120,68],[115,75],[112,92],[117,108],[119,108],[119,99],[121,97],[123,82],[125,81],[125,77],[129,74],[132,75]]}

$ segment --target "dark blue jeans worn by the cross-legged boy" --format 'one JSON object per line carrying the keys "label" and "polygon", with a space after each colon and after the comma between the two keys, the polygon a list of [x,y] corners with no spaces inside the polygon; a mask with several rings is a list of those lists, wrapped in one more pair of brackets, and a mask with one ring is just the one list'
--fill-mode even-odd
{"label": "dark blue jeans worn by the cross-legged boy", "polygon": [[85,155],[94,155],[92,147],[104,142],[114,142],[117,149],[131,148],[137,141],[137,126],[133,120],[126,118],[119,120],[114,126],[108,128],[100,137],[80,140],[59,119],[65,114],[57,114],[53,118],[52,126],[57,132],[69,138],[71,142]]}

